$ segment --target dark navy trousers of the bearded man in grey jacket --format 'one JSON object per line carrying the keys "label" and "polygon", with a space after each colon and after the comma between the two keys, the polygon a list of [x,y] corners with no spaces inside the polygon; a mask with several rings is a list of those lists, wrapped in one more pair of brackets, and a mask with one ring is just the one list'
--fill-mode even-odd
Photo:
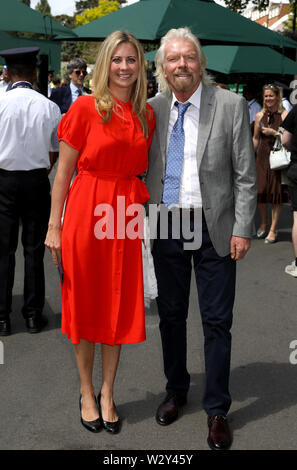
{"label": "dark navy trousers of the bearded man in grey jacket", "polygon": [[[192,233],[193,219],[192,215],[188,218]],[[160,239],[158,230],[153,245],[166,390],[184,397],[190,386],[187,371],[187,316],[193,263],[204,332],[206,384],[203,407],[209,416],[227,414],[231,405],[230,330],[236,262],[230,255],[218,256],[210,240],[204,214],[202,245],[199,249],[184,250],[184,241],[189,240],[184,240],[182,236],[180,239],[170,239],[171,230],[172,216],[169,212],[169,239]]]}

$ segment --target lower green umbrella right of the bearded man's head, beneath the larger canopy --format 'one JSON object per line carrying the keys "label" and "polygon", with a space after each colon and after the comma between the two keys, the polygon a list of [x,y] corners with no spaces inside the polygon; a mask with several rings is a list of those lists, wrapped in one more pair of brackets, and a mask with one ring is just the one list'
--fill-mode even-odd
{"label": "lower green umbrella right of the bearded man's head, beneath the larger canopy", "polygon": [[[230,73],[274,73],[295,75],[297,63],[265,46],[203,46],[208,70]],[[145,58],[153,62],[156,51]]]}

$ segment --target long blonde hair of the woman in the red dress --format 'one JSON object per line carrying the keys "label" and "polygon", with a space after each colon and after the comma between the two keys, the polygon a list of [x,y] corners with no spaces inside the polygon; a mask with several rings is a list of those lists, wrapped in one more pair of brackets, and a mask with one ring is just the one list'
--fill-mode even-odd
{"label": "long blonde hair of the woman in the red dress", "polygon": [[108,79],[112,55],[115,49],[122,43],[132,44],[136,51],[139,64],[139,74],[133,87],[131,101],[133,111],[141,123],[143,134],[147,137],[147,85],[144,53],[138,40],[129,32],[114,31],[107,36],[100,46],[93,72],[93,94],[95,97],[95,106],[104,123],[108,123],[111,119],[112,112],[117,112],[119,108],[119,105],[117,105],[115,109],[115,101],[108,86]]}

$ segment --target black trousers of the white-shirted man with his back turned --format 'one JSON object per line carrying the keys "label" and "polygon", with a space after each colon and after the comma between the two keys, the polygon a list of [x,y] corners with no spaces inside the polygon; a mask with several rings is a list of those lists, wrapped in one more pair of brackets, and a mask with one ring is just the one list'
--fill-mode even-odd
{"label": "black trousers of the white-shirted man with his back turned", "polygon": [[46,169],[0,169],[0,320],[12,307],[15,252],[19,226],[25,261],[24,318],[41,314],[45,298],[44,240],[50,211],[50,183]]}

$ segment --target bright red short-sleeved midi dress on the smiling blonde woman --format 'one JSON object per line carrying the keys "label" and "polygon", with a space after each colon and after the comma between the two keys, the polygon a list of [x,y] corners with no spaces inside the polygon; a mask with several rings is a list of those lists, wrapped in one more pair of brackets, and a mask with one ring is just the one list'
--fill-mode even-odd
{"label": "bright red short-sleeved midi dress on the smiling blonde woman", "polygon": [[[80,97],[58,128],[59,140],[79,150],[61,242],[62,333],[72,343],[85,339],[114,345],[145,340],[142,242],[125,235],[133,219],[125,215],[125,209],[149,199],[136,175],[148,166],[155,120],[147,105],[150,132],[146,140],[131,102],[118,105],[118,114],[113,112],[111,121],[104,124],[94,98]],[[112,213],[114,236],[108,218]],[[108,237],[100,239],[98,229]]]}

